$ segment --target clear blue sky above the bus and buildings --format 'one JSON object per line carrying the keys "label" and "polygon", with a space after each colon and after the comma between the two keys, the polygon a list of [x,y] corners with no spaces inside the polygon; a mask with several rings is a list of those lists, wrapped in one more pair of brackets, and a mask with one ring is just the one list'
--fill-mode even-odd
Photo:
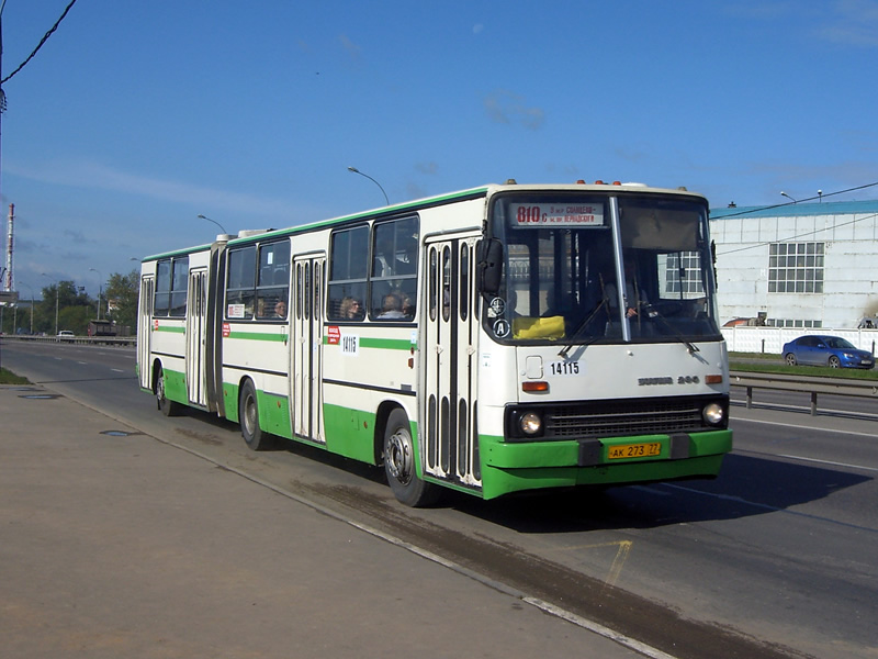
{"label": "clear blue sky above the bus and buildings", "polygon": [[[68,3],[5,0],[2,77]],[[507,178],[714,206],[866,186],[877,65],[878,0],[78,0],[3,85],[15,288],[97,297],[210,242],[199,214],[235,232],[382,205],[348,166],[392,202]]]}

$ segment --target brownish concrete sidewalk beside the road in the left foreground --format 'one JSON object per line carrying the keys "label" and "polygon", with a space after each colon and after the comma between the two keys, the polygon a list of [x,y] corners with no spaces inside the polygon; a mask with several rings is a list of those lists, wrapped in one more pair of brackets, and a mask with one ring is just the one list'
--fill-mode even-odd
{"label": "brownish concrete sidewalk beside the road in the left foreground", "polygon": [[0,387],[3,657],[641,656],[41,393]]}

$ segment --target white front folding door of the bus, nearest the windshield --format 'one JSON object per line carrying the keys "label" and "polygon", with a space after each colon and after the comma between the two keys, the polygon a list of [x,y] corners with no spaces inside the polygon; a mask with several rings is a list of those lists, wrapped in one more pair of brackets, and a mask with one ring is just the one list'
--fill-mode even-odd
{"label": "white front folding door of the bus, nearest the windshield", "polygon": [[476,236],[426,243],[421,446],[427,473],[481,485],[475,423],[479,321],[473,314]]}

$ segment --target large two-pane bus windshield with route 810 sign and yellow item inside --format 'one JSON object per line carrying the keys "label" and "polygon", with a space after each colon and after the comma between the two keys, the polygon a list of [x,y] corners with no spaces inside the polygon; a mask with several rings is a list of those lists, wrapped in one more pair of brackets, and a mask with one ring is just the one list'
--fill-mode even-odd
{"label": "large two-pane bus windshield with route 810 sign and yellow item inside", "polygon": [[[504,343],[719,340],[703,202],[676,196],[513,193],[485,327]],[[620,286],[619,282],[622,282]]]}

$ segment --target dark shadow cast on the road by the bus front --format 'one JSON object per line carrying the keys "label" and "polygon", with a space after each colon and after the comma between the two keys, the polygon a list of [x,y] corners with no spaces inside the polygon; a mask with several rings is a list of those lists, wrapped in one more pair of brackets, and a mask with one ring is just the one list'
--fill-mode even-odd
{"label": "dark shadow cast on the road by the bus front", "polygon": [[519,533],[653,528],[777,512],[820,516],[792,509],[871,480],[841,469],[731,454],[713,480],[559,490],[479,502],[458,495],[447,503]]}

